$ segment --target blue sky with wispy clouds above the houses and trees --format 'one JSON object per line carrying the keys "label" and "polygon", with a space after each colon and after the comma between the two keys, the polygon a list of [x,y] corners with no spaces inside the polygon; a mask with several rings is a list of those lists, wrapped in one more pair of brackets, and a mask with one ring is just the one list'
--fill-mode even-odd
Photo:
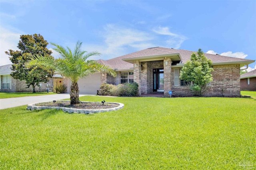
{"label": "blue sky with wispy clouds above the houses and trees", "polygon": [[167,47],[256,60],[256,1],[0,1],[0,65],[11,64],[4,51],[20,35],[34,33],[71,49],[81,40],[102,53],[90,59]]}

